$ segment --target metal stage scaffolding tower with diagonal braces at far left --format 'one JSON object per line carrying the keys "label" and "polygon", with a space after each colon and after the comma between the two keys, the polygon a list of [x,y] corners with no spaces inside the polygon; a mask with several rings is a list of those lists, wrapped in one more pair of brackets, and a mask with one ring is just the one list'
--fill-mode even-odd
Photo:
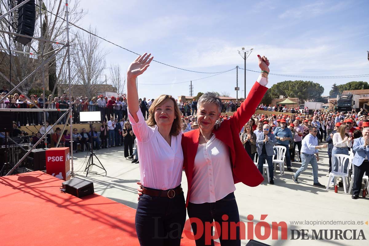
{"label": "metal stage scaffolding tower with diagonal braces at far left", "polygon": [[[30,0],[25,0],[23,1],[22,3],[18,4],[17,6],[15,6],[14,8],[11,8],[11,10],[7,11],[6,13],[4,13],[3,15],[0,16],[0,20],[2,18],[4,18],[5,16],[7,16],[8,14],[12,13],[13,11],[17,10],[19,7],[23,6],[24,4],[26,4],[28,1]],[[15,85],[11,82],[11,78],[7,78],[5,75],[3,75],[1,72],[0,72],[0,75],[5,79],[7,80],[7,82],[9,82],[12,86],[14,86],[13,89],[11,89],[9,91],[8,94],[6,94],[6,96],[4,96],[3,98],[0,99],[0,103],[5,100],[5,98],[7,98],[8,96],[11,95],[11,93],[13,93],[15,90],[18,89],[18,87],[20,87],[20,85],[22,83],[24,83],[29,77],[31,77],[32,75],[34,75],[38,70],[41,69],[41,72],[42,72],[42,90],[43,90],[43,94],[45,95],[45,74],[44,74],[44,66],[46,64],[49,63],[49,61],[54,58],[59,52],[62,51],[62,49],[66,48],[66,53],[64,55],[64,58],[62,60],[62,64],[61,64],[61,67],[60,67],[60,70],[59,70],[59,74],[56,78],[56,82],[55,82],[55,85],[54,85],[54,89],[52,90],[52,95],[54,95],[55,93],[55,89],[56,89],[56,86],[58,84],[58,80],[59,80],[59,77],[61,75],[61,72],[62,72],[62,68],[63,68],[63,65],[65,63],[65,60],[66,58],[68,59],[67,60],[67,66],[68,66],[68,84],[69,84],[69,98],[71,99],[72,98],[72,95],[71,95],[71,90],[70,90],[70,53],[69,53],[69,49],[70,49],[70,44],[69,44],[69,8],[68,8],[68,0],[65,0],[65,15],[66,15],[66,33],[67,33],[67,42],[64,44],[64,42],[56,42],[56,41],[52,41],[52,40],[48,40],[48,39],[44,39],[42,37],[42,11],[41,11],[41,7],[43,6],[43,1],[42,0],[38,0],[38,3],[39,3],[39,18],[40,18],[40,38],[37,38],[37,37],[30,37],[30,36],[27,36],[27,35],[22,35],[22,34],[17,34],[17,33],[14,33],[14,32],[10,32],[10,31],[5,31],[5,30],[0,30],[0,32],[3,32],[3,33],[6,33],[6,34],[10,34],[10,35],[13,35],[13,40],[14,41],[14,36],[21,36],[21,37],[26,37],[26,38],[32,38],[32,39],[37,39],[38,41],[40,41],[40,47],[41,47],[41,53],[39,54],[35,54],[39,57],[39,59],[41,59],[41,65],[39,65],[38,67],[36,67],[33,72],[31,72],[29,75],[27,75],[25,77],[25,79],[23,79],[19,84]],[[56,18],[59,18],[58,14],[59,14],[59,9],[60,9],[60,6],[62,4],[62,0],[59,1],[59,7],[58,7],[58,11],[55,15],[55,19],[54,19],[54,24],[52,26],[52,29],[51,29],[51,34],[52,32],[54,31],[54,27],[55,27],[55,23],[56,23]],[[51,37],[52,35],[50,35]],[[44,60],[44,56],[46,54],[44,54],[44,42],[47,42],[47,43],[52,43],[52,44],[57,44],[57,45],[61,45],[60,48],[56,49],[55,52],[49,56],[48,59]],[[32,47],[31,47],[32,48]],[[10,55],[10,59],[11,59],[11,53],[10,53],[10,44],[9,44],[9,55]],[[27,53],[27,52],[20,52],[20,51],[12,51],[12,52],[15,52],[15,53]],[[27,53],[28,54],[28,53]],[[33,55],[33,54],[30,54],[30,55]],[[11,63],[10,63],[11,64]],[[18,89],[18,91],[20,91],[20,93],[23,94],[23,92]],[[27,95],[25,95],[25,97],[30,100],[30,98],[27,97]],[[63,117],[65,117],[66,115],[68,115],[69,117],[69,128],[70,128],[70,134],[72,136],[72,133],[73,133],[73,125],[72,125],[72,104],[69,103],[69,109],[63,109],[63,110],[60,110],[60,109],[51,109],[49,108],[50,107],[50,104],[48,105],[48,108],[39,108],[36,104],[35,105],[35,109],[32,109],[32,111],[34,112],[43,112],[44,114],[44,128],[45,130],[47,129],[46,128],[46,112],[48,111],[63,111],[63,114],[62,116],[55,122],[54,125],[58,124],[62,119]],[[44,105],[45,105],[45,96],[44,96]],[[21,109],[21,108],[0,108],[0,112],[1,111],[17,111],[17,112],[24,112],[24,111],[29,111],[28,109]],[[64,112],[65,111],[65,112]],[[65,121],[64,123],[64,127],[63,129],[66,128],[68,124],[68,120]],[[50,132],[51,128],[45,132],[45,134],[43,136],[41,136],[41,138],[38,140],[37,143],[35,143],[31,149],[29,149],[27,151],[27,153],[17,162],[17,164],[15,164],[15,166],[6,174],[6,175],[10,175],[18,166],[21,162],[23,162],[23,160],[31,153],[31,151],[33,149],[36,148],[36,146],[43,140],[46,138],[46,135]],[[62,137],[62,134],[60,135],[59,139],[58,139],[58,143],[60,142],[60,139]],[[47,141],[45,141],[45,148],[47,148]],[[72,150],[73,149],[73,138],[71,137],[70,138],[70,149]],[[74,172],[73,172],[73,151],[70,152],[70,163],[71,163],[71,176],[74,176]]]}

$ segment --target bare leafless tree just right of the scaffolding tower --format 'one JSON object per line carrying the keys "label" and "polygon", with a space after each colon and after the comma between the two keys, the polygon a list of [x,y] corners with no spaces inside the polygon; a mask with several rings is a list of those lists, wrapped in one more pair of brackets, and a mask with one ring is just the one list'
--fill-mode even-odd
{"label": "bare leafless tree just right of the scaffolding tower", "polygon": [[[97,34],[97,29],[89,27],[89,32]],[[101,39],[82,32],[77,34],[77,51],[74,58],[77,78],[88,97],[95,96],[98,90],[97,85],[103,83],[100,77],[106,67],[106,55],[107,52],[101,48]]]}

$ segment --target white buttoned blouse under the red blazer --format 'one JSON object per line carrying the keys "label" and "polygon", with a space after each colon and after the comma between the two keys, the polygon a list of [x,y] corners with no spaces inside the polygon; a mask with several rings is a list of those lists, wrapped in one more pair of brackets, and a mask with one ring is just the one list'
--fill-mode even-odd
{"label": "white buttoned blouse under the red blazer", "polygon": [[213,135],[197,147],[189,201],[215,202],[235,190],[229,149]]}

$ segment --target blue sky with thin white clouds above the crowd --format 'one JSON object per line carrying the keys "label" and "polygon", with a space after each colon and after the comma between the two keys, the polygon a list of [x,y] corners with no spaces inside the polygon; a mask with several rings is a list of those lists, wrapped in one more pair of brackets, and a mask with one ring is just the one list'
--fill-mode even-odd
{"label": "blue sky with thin white clouds above the crowd", "polygon": [[[73,4],[70,3],[70,4]],[[137,53],[151,52],[156,60],[200,72],[220,72],[244,60],[237,50],[254,48],[246,69],[259,70],[257,56],[270,60],[270,71],[284,75],[340,76],[369,74],[369,1],[95,1],[81,0],[88,14],[79,22]],[[106,62],[125,72],[137,55],[107,42]],[[106,70],[108,75],[108,69]],[[210,74],[211,75],[211,74]],[[152,62],[138,77],[139,97],[189,95],[190,83],[210,76]],[[246,91],[257,73],[246,73]],[[104,78],[104,77],[103,77]],[[333,83],[352,79],[304,79],[269,76],[268,87],[284,80],[310,80],[328,95]],[[239,95],[244,72],[238,70]],[[150,84],[150,85],[143,85]],[[167,84],[167,85],[158,85]],[[236,97],[236,71],[193,82],[199,91],[228,92]],[[239,96],[240,97],[240,96]]]}

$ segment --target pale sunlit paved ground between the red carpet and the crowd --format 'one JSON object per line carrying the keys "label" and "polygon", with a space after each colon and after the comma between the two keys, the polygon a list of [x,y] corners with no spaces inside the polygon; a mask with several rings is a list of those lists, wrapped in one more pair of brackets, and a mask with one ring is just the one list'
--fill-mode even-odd
{"label": "pale sunlit paved ground between the red carpet and the crowd", "polygon": [[[86,152],[76,153],[74,160],[74,171],[77,177],[82,176],[84,179],[94,182],[95,192],[120,202],[132,208],[137,208],[137,184],[140,179],[139,164],[131,164],[131,161],[124,160],[123,147],[111,148],[107,150],[99,150],[96,156],[107,170],[106,173],[98,167],[93,167],[93,171],[97,171],[96,175],[86,175],[83,173],[87,159]],[[320,153],[321,160],[319,164],[319,181],[327,185],[328,177],[328,155],[325,150]],[[97,163],[95,161],[95,163]],[[294,162],[293,170],[296,171],[301,164]],[[279,168],[277,168],[279,169]],[[368,245],[369,226],[365,224],[369,220],[369,198],[360,198],[358,200],[351,199],[351,195],[345,194],[343,188],[339,188],[338,193],[334,193],[334,188],[329,191],[325,188],[313,186],[313,176],[311,166],[299,177],[300,184],[295,184],[292,180],[293,173],[288,172],[281,177],[279,171],[275,172],[275,185],[267,184],[264,181],[258,187],[248,187],[242,183],[236,184],[237,190],[235,196],[238,204],[241,221],[251,222],[248,215],[254,216],[254,228],[259,221],[266,221],[270,225],[272,222],[286,222],[287,224],[287,240],[281,240],[281,232],[278,232],[278,240],[272,240],[272,235],[264,240],[264,243],[273,246],[292,246],[292,245]],[[182,187],[187,192],[187,180],[183,172]],[[268,215],[265,219],[261,219],[261,215]],[[300,221],[294,224],[293,221]],[[307,221],[307,222],[306,222]],[[309,225],[307,223],[320,223],[319,225]],[[358,225],[358,222],[361,225]],[[330,224],[327,224],[330,223]],[[355,223],[355,225],[353,224]],[[250,223],[251,224],[251,223]],[[343,224],[343,225],[342,225]],[[249,224],[247,224],[249,226]],[[258,226],[256,226],[258,227]],[[302,235],[298,239],[297,231],[308,230],[307,236],[309,240],[303,240]],[[327,236],[325,231],[321,231],[323,239],[313,240],[313,229],[319,233],[319,230],[328,230]],[[330,230],[351,230],[346,231],[345,237],[350,239],[358,238],[360,230],[367,240],[347,240],[339,235],[335,235],[339,231]],[[294,235],[292,235],[292,230]],[[354,232],[354,230],[356,230]],[[305,231],[306,232],[306,231]],[[330,239],[333,232],[333,239]],[[301,233],[301,231],[300,231]],[[356,235],[354,235],[354,233]],[[264,229],[261,229],[264,234]],[[301,233],[302,234],[302,233]],[[249,234],[246,234],[249,236]],[[292,239],[295,238],[295,239]],[[337,237],[337,240],[334,238]],[[318,236],[319,238],[319,236]],[[256,240],[258,238],[255,236]],[[313,241],[312,241],[313,240]],[[245,245],[248,240],[243,240]]]}

